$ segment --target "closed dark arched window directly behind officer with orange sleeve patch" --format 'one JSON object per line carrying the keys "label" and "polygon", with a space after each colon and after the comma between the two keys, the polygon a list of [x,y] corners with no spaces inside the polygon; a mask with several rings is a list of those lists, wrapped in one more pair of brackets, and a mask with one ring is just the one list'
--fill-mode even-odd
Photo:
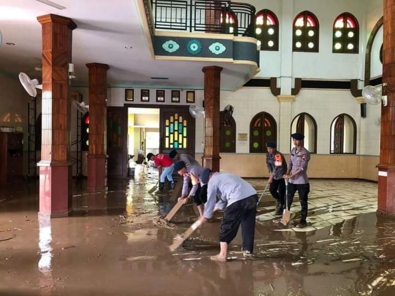
{"label": "closed dark arched window directly behind officer with orange sleeve patch", "polygon": [[250,153],[266,153],[266,142],[277,141],[277,124],[266,112],[260,112],[250,123]]}

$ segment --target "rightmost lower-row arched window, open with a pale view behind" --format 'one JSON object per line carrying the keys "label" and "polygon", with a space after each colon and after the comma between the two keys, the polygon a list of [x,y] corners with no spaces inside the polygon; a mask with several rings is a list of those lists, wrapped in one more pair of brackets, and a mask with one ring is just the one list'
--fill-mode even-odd
{"label": "rightmost lower-row arched window, open with a pale view behind", "polygon": [[348,114],[340,114],[331,124],[331,153],[355,154],[357,150],[357,125]]}

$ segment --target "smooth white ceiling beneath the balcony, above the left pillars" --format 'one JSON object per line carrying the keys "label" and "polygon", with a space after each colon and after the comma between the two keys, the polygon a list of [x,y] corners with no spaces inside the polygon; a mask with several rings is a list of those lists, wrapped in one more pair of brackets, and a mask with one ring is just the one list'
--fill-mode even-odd
{"label": "smooth white ceiling beneath the balcony, above the left pillars", "polygon": [[[212,62],[153,60],[143,34],[135,0],[54,0],[67,7],[59,10],[35,0],[1,0],[0,70],[26,72],[40,78],[34,70],[41,61],[41,24],[37,17],[48,13],[70,17],[77,24],[73,31],[73,63],[78,80],[75,86],[87,86],[87,63],[110,66],[110,86],[203,86],[204,66],[224,67],[221,88],[233,89],[252,66]],[[116,3],[116,5],[115,5]],[[6,45],[15,43],[15,46]],[[125,49],[132,45],[133,49]],[[151,80],[150,77],[169,77]]]}

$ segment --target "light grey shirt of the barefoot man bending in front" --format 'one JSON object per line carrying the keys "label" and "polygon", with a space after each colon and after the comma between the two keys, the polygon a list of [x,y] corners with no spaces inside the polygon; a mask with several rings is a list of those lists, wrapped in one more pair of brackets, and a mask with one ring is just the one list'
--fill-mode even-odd
{"label": "light grey shirt of the barefoot man bending in front", "polygon": [[204,205],[203,215],[211,219],[215,207],[223,210],[234,202],[254,194],[256,194],[255,189],[246,180],[235,174],[216,172],[211,175],[207,184],[207,202]]}

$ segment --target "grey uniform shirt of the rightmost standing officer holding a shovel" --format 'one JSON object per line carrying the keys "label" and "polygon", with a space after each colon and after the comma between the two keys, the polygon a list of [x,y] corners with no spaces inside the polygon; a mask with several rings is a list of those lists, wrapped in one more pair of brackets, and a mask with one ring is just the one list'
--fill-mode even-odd
{"label": "grey uniform shirt of the rightmost standing officer holding a shovel", "polygon": [[302,171],[290,179],[290,183],[308,184],[307,164],[309,160],[310,152],[308,152],[306,148],[303,147],[300,150],[296,150],[296,147],[292,148],[290,161],[288,162],[288,169],[291,169],[291,174],[296,172],[298,169],[301,169]]}

